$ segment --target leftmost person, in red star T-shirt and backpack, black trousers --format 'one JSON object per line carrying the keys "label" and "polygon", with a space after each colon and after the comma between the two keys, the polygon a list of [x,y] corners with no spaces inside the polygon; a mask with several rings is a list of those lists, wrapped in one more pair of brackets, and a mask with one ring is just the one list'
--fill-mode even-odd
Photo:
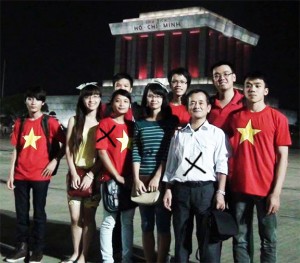
{"label": "leftmost person, in red star T-shirt and backpack, black trousers", "polygon": [[10,174],[7,187],[14,191],[16,206],[17,246],[7,262],[23,260],[29,254],[30,239],[30,190],[32,189],[33,231],[32,254],[29,262],[41,262],[43,258],[44,238],[46,230],[46,197],[52,172],[58,160],[64,154],[65,134],[58,121],[48,119],[49,141],[55,138],[63,145],[58,156],[50,160],[47,139],[42,127],[42,106],[46,100],[46,92],[40,87],[27,90],[25,104],[28,116],[16,121],[11,143],[15,147],[12,153]]}

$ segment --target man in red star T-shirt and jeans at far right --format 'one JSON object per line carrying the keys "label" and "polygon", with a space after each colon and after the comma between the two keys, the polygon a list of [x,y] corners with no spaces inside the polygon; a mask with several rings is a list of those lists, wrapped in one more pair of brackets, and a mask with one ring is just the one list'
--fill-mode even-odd
{"label": "man in red star T-shirt and jeans at far right", "polygon": [[276,262],[276,213],[285,179],[291,139],[287,118],[265,104],[265,76],[246,76],[246,107],[228,122],[233,148],[230,187],[239,234],[233,239],[235,262],[249,262],[253,209],[261,239],[261,262]]}

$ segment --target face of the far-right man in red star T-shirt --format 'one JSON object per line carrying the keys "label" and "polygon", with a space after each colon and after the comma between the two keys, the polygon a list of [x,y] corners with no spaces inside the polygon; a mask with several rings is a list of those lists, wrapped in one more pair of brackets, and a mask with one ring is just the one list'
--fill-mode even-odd
{"label": "face of the far-right man in red star T-shirt", "polygon": [[265,96],[268,95],[269,89],[266,87],[266,83],[259,78],[249,79],[247,78],[244,83],[244,94],[247,102],[264,103]]}

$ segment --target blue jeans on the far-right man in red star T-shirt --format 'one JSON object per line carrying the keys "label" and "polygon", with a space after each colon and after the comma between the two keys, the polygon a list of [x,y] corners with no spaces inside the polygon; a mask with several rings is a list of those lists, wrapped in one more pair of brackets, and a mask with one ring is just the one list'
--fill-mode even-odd
{"label": "blue jeans on the far-right man in red star T-shirt", "polygon": [[233,238],[235,262],[250,262],[250,243],[253,227],[253,209],[256,206],[258,230],[261,240],[260,262],[276,262],[276,214],[267,215],[267,198],[246,194],[233,194],[233,210],[239,233]]}

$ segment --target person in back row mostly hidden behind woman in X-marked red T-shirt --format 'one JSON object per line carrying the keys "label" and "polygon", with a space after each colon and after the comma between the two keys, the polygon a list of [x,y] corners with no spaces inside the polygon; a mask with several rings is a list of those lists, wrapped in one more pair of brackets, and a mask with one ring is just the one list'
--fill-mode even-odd
{"label": "person in back row mostly hidden behind woman in X-marked red T-shirt", "polygon": [[[117,73],[113,76],[114,90],[124,89],[129,93],[132,93],[133,79],[127,73]],[[112,113],[112,109],[109,103],[102,104],[102,112],[104,117],[108,117]],[[125,119],[129,121],[135,121],[140,119],[142,116],[142,108],[137,102],[132,102],[130,109],[125,115]]]}

